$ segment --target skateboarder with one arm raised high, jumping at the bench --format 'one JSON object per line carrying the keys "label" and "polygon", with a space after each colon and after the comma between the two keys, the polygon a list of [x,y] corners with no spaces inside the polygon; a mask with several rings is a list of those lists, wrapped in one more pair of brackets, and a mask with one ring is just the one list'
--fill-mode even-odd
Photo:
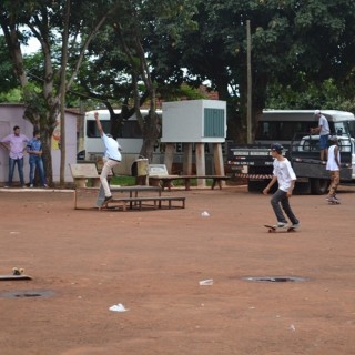
{"label": "skateboarder with one arm raised high, jumping at the bench", "polygon": [[115,141],[111,134],[105,134],[103,132],[100,119],[99,119],[99,113],[95,112],[94,114],[95,121],[97,121],[97,126],[100,132],[100,135],[103,140],[103,144],[105,146],[105,152],[103,155],[103,168],[100,174],[100,181],[102,184],[102,187],[104,190],[104,201],[103,204],[112,199],[112,193],[110,190],[110,185],[108,182],[108,176],[112,171],[112,168],[120,164],[122,160],[121,155],[121,145],[119,144],[118,141]]}

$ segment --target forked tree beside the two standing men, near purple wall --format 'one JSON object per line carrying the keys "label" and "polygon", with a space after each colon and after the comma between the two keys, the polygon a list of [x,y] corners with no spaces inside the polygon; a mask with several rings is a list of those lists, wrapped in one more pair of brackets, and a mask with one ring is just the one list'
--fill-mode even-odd
{"label": "forked tree beside the two standing men, near purple wall", "polygon": [[[65,9],[70,3],[72,11],[69,14]],[[3,0],[0,3],[1,28],[11,53],[14,72],[23,90],[24,114],[42,132],[43,158],[49,183],[52,183],[50,143],[60,102],[65,100],[63,95],[72,85],[90,41],[118,6],[119,2],[92,3],[87,0],[55,1],[50,7],[40,0]],[[67,23],[65,30],[62,23]],[[28,30],[21,30],[23,27]],[[36,37],[41,44],[43,65],[40,90],[28,75],[20,48],[20,43],[29,36]],[[53,48],[58,43],[63,44],[59,60],[52,55]],[[72,63],[69,69],[67,55]],[[63,165],[61,160],[61,172]],[[61,173],[61,183],[63,183],[62,176]]]}

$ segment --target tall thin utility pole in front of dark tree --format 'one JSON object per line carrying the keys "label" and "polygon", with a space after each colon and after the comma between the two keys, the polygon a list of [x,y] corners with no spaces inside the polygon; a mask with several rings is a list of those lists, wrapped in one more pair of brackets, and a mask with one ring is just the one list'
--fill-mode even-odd
{"label": "tall thin utility pole in front of dark tree", "polygon": [[252,144],[252,40],[251,21],[246,20],[246,80],[247,80],[247,103],[246,103],[246,140]]}

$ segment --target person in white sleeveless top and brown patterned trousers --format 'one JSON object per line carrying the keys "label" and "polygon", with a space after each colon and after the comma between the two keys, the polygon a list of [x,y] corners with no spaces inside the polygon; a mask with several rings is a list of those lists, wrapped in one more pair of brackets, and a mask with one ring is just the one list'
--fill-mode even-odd
{"label": "person in white sleeveless top and brown patterned trousers", "polygon": [[336,135],[329,138],[329,143],[328,160],[325,166],[331,174],[331,185],[327,200],[329,202],[337,202],[336,191],[341,179],[341,152],[337,145]]}

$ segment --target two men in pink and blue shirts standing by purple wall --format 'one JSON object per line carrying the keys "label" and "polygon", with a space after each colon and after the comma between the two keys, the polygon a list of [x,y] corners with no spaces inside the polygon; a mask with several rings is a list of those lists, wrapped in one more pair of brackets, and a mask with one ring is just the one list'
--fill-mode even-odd
{"label": "two men in pink and blue shirts standing by purple wall", "polygon": [[12,186],[12,179],[14,172],[14,165],[18,165],[18,172],[20,178],[21,187],[27,187],[23,178],[23,159],[24,154],[29,154],[30,163],[30,187],[33,187],[36,169],[40,178],[40,183],[43,187],[48,187],[45,182],[44,165],[42,160],[42,142],[41,135],[38,130],[33,131],[33,138],[29,139],[20,132],[20,128],[16,125],[13,133],[7,135],[0,141],[2,148],[9,152],[9,175],[6,187]]}

